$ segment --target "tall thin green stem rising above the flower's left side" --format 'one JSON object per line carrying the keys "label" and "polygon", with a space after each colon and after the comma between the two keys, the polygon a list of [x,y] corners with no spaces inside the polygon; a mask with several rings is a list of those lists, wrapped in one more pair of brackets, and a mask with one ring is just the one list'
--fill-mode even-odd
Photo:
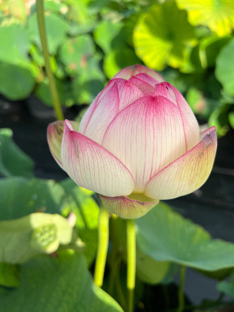
{"label": "tall thin green stem rising above the flower's left side", "polygon": [[49,79],[49,86],[50,86],[51,97],[52,97],[53,104],[54,104],[54,110],[55,110],[57,119],[64,120],[54,75],[51,71],[51,66],[50,66],[50,59],[49,59],[49,53],[48,53],[48,47],[47,47],[47,41],[46,41],[43,0],[37,0],[36,5],[37,5],[37,21],[38,21],[39,33],[41,37],[41,46],[42,46],[42,51],[43,51],[43,55],[45,59],[46,73]]}

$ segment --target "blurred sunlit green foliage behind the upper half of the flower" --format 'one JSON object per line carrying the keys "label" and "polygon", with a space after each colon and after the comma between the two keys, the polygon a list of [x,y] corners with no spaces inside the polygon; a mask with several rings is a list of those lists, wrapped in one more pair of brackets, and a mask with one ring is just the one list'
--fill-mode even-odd
{"label": "blurred sunlit green foliage behind the upper half of the flower", "polygon": [[[219,136],[234,128],[232,0],[45,1],[62,105],[90,104],[119,70],[143,64],[186,98]],[[52,106],[35,0],[0,1],[0,93]]]}

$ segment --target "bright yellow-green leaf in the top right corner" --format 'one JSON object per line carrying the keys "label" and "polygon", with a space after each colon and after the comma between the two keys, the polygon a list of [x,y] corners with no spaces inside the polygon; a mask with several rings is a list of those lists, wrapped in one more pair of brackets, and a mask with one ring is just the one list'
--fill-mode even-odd
{"label": "bright yellow-green leaf in the top right corner", "polygon": [[188,12],[190,24],[205,25],[223,37],[234,28],[234,2],[232,0],[175,0],[179,9]]}

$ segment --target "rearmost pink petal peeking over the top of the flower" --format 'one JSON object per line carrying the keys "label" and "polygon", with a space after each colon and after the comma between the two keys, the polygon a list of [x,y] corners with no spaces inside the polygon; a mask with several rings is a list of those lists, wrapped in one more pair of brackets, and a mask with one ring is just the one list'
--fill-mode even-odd
{"label": "rearmost pink petal peeking over the top of the flower", "polygon": [[129,79],[131,76],[135,76],[140,73],[147,74],[155,78],[159,82],[164,81],[163,77],[160,76],[156,71],[153,71],[153,69],[150,69],[142,65],[134,65],[134,66],[124,68],[122,69],[122,71],[119,71],[118,74],[116,74],[114,78]]}

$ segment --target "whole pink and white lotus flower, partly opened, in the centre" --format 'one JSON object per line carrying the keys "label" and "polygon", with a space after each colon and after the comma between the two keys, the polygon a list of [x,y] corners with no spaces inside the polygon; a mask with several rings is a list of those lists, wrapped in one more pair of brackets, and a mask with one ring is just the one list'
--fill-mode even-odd
{"label": "whole pink and white lotus flower, partly opened, in the centre", "polygon": [[215,127],[199,135],[179,91],[140,65],[110,80],[80,125],[50,124],[48,143],[72,180],[99,193],[104,207],[123,218],[200,188],[217,148]]}

